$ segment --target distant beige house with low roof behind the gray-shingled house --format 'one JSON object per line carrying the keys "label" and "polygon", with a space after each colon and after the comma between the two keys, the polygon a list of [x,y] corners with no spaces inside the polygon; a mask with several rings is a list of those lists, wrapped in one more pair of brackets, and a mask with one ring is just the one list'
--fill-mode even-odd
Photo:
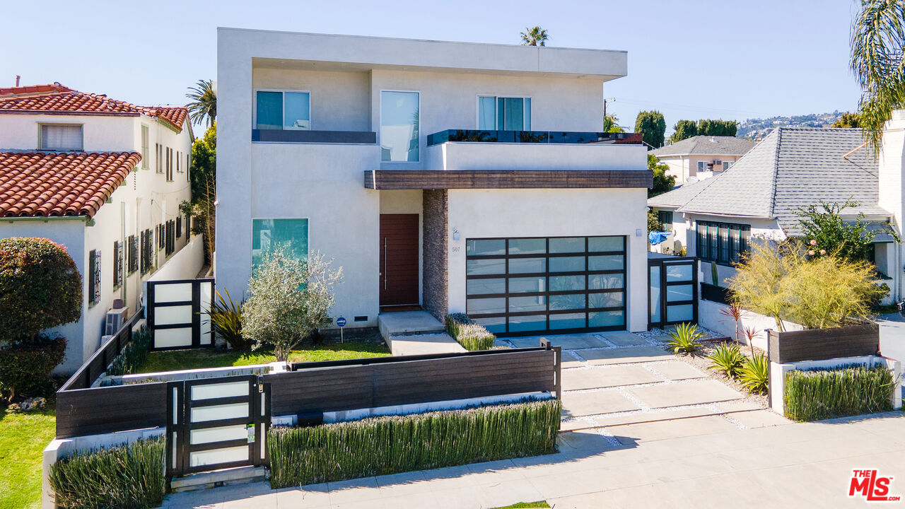
{"label": "distant beige house with low roof behind the gray-shingled house", "polygon": [[692,136],[649,153],[670,167],[666,175],[676,184],[719,175],[755,146],[750,139],[734,136]]}

